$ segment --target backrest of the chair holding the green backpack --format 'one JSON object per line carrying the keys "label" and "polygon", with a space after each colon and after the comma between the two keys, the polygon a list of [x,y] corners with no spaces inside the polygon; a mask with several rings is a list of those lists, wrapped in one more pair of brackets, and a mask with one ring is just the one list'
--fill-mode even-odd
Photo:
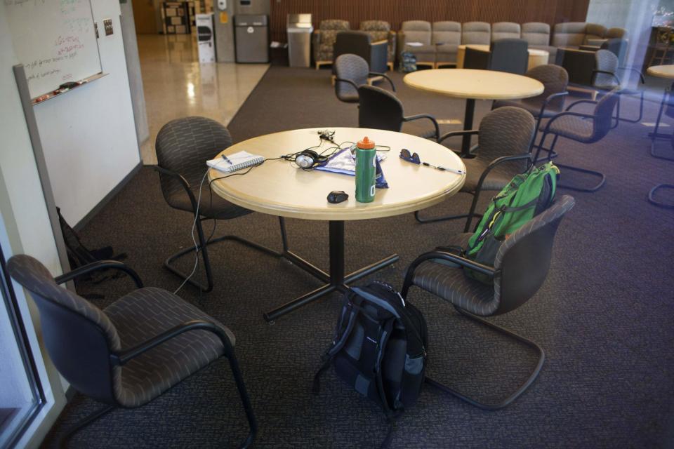
{"label": "backrest of the chair holding the green backpack", "polygon": [[505,239],[496,253],[494,267],[494,315],[517,309],[534,296],[548,276],[557,227],[574,207],[573,196],[563,195]]}

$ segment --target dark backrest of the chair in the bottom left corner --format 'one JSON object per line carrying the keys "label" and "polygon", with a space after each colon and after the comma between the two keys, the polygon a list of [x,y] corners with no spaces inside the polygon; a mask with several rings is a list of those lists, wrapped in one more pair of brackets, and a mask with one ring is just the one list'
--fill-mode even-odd
{"label": "dark backrest of the chair in the bottom left corner", "polygon": [[29,290],[40,311],[44,344],[56,369],[74,389],[98,401],[116,404],[110,353],[121,343],[105,312],[83,297],[58,286],[48,269],[28,255],[7,262],[12,278]]}

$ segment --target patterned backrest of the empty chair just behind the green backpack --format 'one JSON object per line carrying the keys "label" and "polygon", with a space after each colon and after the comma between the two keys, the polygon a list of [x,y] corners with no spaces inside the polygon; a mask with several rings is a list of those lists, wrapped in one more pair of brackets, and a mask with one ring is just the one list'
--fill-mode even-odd
{"label": "patterned backrest of the empty chair just behind the green backpack", "polygon": [[[491,162],[501,156],[529,153],[536,121],[521,107],[504,106],[485,115],[477,134],[477,159]],[[508,171],[521,173],[527,161],[507,163]]]}

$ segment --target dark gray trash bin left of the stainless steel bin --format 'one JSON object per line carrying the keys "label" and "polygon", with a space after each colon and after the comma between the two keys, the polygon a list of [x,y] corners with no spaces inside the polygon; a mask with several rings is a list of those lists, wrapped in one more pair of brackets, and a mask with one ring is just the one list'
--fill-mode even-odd
{"label": "dark gray trash bin left of the stainless steel bin", "polygon": [[269,62],[269,22],[263,14],[234,16],[237,62]]}

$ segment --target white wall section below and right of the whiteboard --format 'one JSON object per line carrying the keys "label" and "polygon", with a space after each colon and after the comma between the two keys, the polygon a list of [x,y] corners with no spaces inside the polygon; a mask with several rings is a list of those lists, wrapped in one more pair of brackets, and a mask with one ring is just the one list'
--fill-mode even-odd
{"label": "white wall section below and right of the whiteboard", "polygon": [[[91,0],[91,7],[108,75],[34,107],[55,203],[71,225],[140,163],[119,1]],[[113,24],[110,36],[103,33],[107,18]]]}

